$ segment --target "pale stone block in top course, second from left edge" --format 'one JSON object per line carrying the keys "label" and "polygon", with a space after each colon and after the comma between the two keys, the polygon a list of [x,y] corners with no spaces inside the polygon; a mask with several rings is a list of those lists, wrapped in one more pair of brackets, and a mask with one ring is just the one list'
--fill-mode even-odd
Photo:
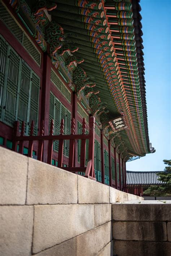
{"label": "pale stone block in top course, second from left edge", "polygon": [[77,176],[29,158],[27,204],[75,204]]}

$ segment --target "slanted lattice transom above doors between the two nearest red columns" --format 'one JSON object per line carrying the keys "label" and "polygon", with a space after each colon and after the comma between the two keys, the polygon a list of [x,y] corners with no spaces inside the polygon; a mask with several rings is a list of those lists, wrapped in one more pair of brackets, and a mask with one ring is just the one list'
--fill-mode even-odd
{"label": "slanted lattice transom above doors between the two nearest red columns", "polygon": [[65,84],[60,80],[57,74],[51,69],[51,81],[52,83],[61,91],[62,95],[71,103],[71,92],[65,86]]}

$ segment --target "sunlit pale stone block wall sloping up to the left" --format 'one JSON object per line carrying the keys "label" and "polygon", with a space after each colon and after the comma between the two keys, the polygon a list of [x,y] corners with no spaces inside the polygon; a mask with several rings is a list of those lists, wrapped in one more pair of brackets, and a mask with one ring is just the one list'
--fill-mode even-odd
{"label": "sunlit pale stone block wall sloping up to the left", "polygon": [[111,204],[127,200],[143,199],[0,147],[0,255],[113,255]]}

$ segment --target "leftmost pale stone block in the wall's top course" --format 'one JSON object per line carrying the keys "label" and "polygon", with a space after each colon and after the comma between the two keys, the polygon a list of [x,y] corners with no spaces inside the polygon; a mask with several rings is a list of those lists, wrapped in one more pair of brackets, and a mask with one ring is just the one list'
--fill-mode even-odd
{"label": "leftmost pale stone block in the wall's top course", "polygon": [[0,147],[0,204],[25,204],[28,157]]}

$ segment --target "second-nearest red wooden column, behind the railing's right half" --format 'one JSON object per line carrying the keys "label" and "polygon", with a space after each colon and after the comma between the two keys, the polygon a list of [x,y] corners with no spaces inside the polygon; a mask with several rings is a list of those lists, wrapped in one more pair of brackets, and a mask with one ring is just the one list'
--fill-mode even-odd
{"label": "second-nearest red wooden column, behind the railing's right half", "polygon": [[[75,134],[78,134],[78,112],[77,112],[77,95],[76,92],[73,92],[73,97],[72,97],[72,107],[73,107],[73,118],[75,120]],[[78,159],[77,159],[77,151],[78,151],[78,143],[77,140],[75,140],[75,145],[74,145],[74,166],[78,167]]]}

